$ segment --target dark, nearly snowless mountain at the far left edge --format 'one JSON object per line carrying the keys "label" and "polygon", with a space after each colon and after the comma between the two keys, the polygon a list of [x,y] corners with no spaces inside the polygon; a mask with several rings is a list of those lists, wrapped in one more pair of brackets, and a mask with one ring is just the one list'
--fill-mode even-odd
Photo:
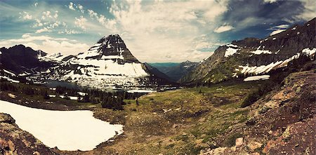
{"label": "dark, nearly snowless mountain at the far left edge", "polygon": [[41,61],[38,57],[44,57],[46,53],[41,50],[33,50],[23,45],[11,48],[0,48],[0,64],[3,69],[10,70],[14,74],[36,74],[45,72],[54,63]]}

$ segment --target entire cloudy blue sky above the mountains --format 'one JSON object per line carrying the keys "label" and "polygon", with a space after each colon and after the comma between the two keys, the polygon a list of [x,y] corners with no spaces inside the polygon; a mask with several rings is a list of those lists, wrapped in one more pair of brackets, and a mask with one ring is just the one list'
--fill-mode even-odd
{"label": "entire cloudy blue sky above the mountains", "polygon": [[0,46],[77,55],[119,34],[140,62],[199,62],[218,46],[316,17],[314,0],[0,0]]}

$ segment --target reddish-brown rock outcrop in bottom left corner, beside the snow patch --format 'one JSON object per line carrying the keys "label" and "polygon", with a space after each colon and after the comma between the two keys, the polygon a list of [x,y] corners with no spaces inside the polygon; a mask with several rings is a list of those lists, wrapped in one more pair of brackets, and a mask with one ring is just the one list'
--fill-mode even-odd
{"label": "reddish-brown rock outcrop in bottom left corner, beside the snow patch", "polygon": [[8,114],[0,113],[0,154],[55,154],[33,135],[18,128]]}

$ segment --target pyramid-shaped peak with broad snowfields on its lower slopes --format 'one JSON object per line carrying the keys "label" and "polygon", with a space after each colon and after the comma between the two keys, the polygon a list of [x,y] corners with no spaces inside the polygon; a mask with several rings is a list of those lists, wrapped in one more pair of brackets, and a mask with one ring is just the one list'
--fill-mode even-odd
{"label": "pyramid-shaped peak with broad snowfields on its lower slopes", "polygon": [[154,86],[168,83],[162,72],[139,62],[118,34],[105,36],[86,53],[53,68],[49,79],[96,88]]}

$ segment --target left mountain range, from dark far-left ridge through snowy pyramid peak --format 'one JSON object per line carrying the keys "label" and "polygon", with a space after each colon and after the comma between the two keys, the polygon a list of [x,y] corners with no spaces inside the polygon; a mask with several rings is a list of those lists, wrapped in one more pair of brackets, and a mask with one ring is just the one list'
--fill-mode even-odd
{"label": "left mountain range, from dark far-left ridge through snowy pyramid peak", "polygon": [[118,34],[103,37],[78,55],[47,55],[23,45],[0,51],[2,69],[15,76],[32,76],[33,81],[54,79],[94,88],[149,88],[171,83],[158,69],[139,62]]}

